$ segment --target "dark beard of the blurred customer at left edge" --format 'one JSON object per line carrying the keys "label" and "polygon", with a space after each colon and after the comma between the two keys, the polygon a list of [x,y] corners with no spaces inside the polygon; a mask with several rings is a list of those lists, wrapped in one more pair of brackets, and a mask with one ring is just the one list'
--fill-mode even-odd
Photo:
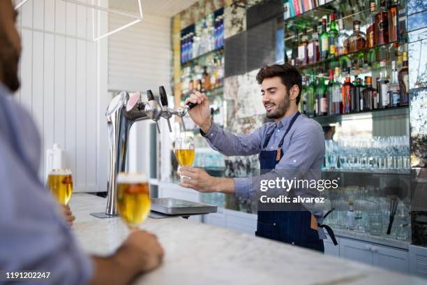
{"label": "dark beard of the blurred customer at left edge", "polygon": [[3,71],[2,82],[11,92],[20,88],[20,79],[18,78],[18,64],[20,57],[11,49],[1,50],[3,53],[0,57],[1,71]]}

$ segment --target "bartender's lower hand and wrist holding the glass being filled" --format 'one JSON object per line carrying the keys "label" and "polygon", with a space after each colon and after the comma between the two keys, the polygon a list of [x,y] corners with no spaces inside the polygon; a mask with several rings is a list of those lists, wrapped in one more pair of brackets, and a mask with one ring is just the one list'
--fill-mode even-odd
{"label": "bartender's lower hand and wrist holding the glass being filled", "polygon": [[202,168],[184,166],[179,168],[183,178],[179,186],[194,189],[203,193],[219,192],[234,195],[234,180],[225,177],[213,177]]}

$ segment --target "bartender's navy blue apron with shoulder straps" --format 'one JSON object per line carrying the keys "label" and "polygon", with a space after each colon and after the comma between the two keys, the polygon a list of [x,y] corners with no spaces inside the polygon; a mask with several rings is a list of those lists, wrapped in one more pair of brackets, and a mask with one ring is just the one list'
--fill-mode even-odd
{"label": "bartender's navy blue apron with shoulder straps", "polygon": [[[285,136],[287,133],[289,133],[292,125],[297,120],[299,115],[300,113],[297,112],[294,117],[292,117],[285,135],[283,135],[283,138],[280,140],[276,150],[264,150],[269,144],[269,140],[274,131],[267,134],[267,138],[265,139],[264,145],[262,146],[262,150],[260,152],[261,174],[276,168],[276,164],[280,161],[280,159],[282,159],[283,152],[281,147],[283,145],[283,141],[285,140]],[[319,238],[317,230],[312,229],[310,226],[311,213],[305,210],[301,204],[295,205],[295,207],[301,210],[258,211],[257,231],[255,232],[255,235],[324,252],[323,240]],[[329,214],[329,212],[327,214]],[[334,244],[336,244],[334,232],[332,232],[329,226],[320,224],[317,224],[317,226],[326,228],[332,240],[334,241]]]}

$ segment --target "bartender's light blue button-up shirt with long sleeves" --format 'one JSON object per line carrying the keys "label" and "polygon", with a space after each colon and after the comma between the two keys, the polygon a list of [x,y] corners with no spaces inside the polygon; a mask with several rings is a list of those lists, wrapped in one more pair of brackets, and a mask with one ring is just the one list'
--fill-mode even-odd
{"label": "bartender's light blue button-up shirt with long sleeves", "polygon": [[[245,135],[234,135],[220,129],[216,124],[212,124],[209,132],[204,134],[204,138],[213,149],[225,156],[252,155],[260,153],[267,134],[273,133],[265,150],[275,151],[292,117],[294,117],[294,114],[284,117],[278,123],[263,124],[253,133]],[[261,177],[274,180],[276,177],[283,177],[288,173],[289,177],[285,177],[288,180],[294,178],[308,181],[320,180],[320,171],[324,158],[324,132],[319,123],[305,115],[300,115],[285,136],[282,149],[284,154],[276,164],[276,173],[275,170],[272,170],[270,173],[260,177],[234,178],[234,195],[242,198],[257,198],[255,197],[256,193],[260,193],[260,184],[257,181]],[[295,171],[280,172],[280,170]],[[294,191],[295,195],[301,197],[319,196],[319,192],[316,189],[294,189]],[[322,224],[322,211],[314,210],[314,208],[305,203],[304,206]],[[324,238],[323,230],[320,228],[319,235],[320,238]]]}

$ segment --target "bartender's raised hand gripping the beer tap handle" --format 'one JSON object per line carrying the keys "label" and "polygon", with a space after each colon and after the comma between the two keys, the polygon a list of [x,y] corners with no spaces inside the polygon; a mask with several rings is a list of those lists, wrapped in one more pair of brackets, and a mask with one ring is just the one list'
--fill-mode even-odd
{"label": "bartender's raised hand gripping the beer tap handle", "polygon": [[188,103],[197,104],[197,106],[188,110],[188,114],[204,133],[208,133],[212,126],[209,99],[204,93],[196,91],[189,98],[186,98],[185,105]]}

